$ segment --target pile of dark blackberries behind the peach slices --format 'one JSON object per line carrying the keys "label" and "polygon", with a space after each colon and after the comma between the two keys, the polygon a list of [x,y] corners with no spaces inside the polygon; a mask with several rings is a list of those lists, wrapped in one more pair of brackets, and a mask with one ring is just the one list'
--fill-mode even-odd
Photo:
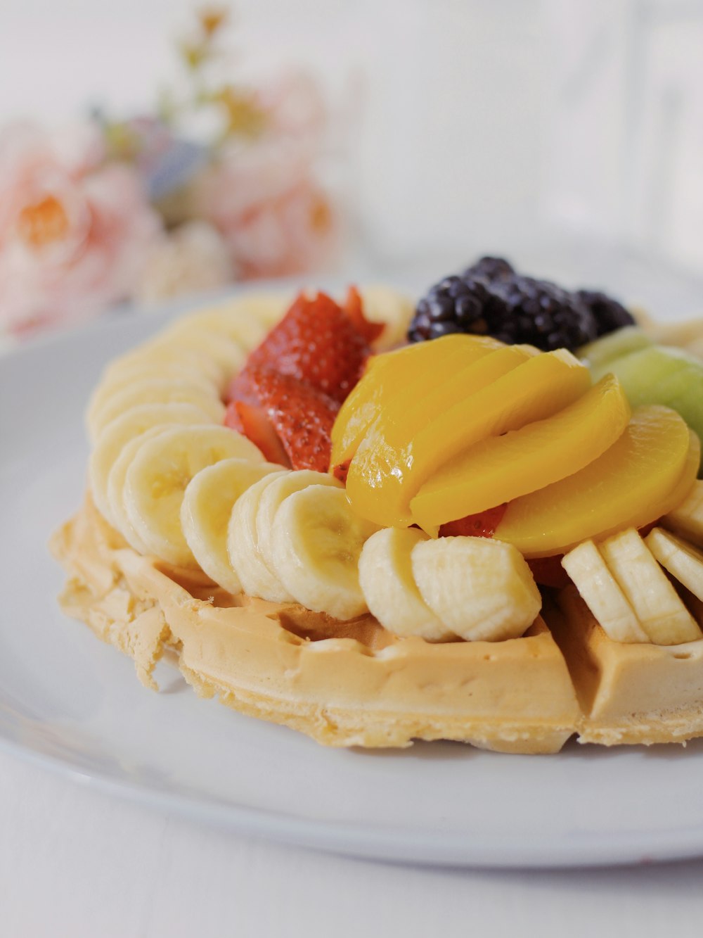
{"label": "pile of dark blackberries behind the peach slices", "polygon": [[629,322],[627,310],[604,294],[572,293],[548,280],[523,277],[503,258],[483,257],[429,289],[417,305],[408,339],[466,332],[509,344],[527,342],[546,352],[574,352]]}

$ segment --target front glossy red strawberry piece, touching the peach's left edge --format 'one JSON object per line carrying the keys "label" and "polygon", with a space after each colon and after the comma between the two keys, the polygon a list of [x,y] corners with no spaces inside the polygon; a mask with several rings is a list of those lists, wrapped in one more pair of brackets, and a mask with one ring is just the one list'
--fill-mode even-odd
{"label": "front glossy red strawberry piece, touching the peach's left edge", "polygon": [[247,367],[236,384],[240,397],[227,409],[228,426],[245,433],[269,461],[327,472],[337,401],[265,366]]}

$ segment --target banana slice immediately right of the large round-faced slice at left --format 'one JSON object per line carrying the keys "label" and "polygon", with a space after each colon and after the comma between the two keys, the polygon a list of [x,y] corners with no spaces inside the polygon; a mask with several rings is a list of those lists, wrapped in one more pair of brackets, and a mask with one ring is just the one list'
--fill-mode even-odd
{"label": "banana slice immediately right of the large round-faced slice at left", "polygon": [[181,506],[181,527],[202,570],[230,593],[242,583],[227,552],[227,530],[237,499],[261,478],[280,472],[274,462],[222,460],[202,469],[188,483]]}

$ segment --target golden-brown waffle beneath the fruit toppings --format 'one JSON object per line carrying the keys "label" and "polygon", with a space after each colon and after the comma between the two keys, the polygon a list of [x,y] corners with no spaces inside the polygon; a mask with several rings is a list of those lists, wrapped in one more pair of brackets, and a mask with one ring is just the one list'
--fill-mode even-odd
{"label": "golden-brown waffle beneath the fruit toppings", "polygon": [[134,658],[145,685],[170,650],[202,697],[325,745],[547,753],[574,734],[606,746],[703,735],[703,641],[610,642],[573,587],[547,604],[549,628],[539,618],[520,639],[432,644],[370,615],[232,596],[131,550],[89,499],[52,550],[69,577],[64,610]]}

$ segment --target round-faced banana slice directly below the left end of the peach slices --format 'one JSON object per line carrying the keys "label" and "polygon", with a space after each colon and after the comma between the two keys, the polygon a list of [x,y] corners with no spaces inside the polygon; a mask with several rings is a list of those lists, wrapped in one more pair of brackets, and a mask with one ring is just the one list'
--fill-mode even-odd
{"label": "round-faced banana slice directly below the left end of the peach slices", "polygon": [[277,510],[271,532],[274,568],[308,609],[352,619],[366,613],[359,555],[378,530],[352,511],[343,489],[309,485]]}

